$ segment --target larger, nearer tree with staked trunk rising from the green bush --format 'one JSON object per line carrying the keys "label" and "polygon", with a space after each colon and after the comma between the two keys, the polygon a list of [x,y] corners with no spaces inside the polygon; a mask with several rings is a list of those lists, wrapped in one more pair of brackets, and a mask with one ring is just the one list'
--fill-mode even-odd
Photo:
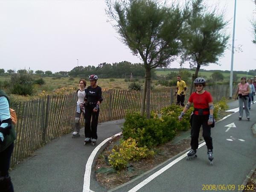
{"label": "larger, nearer tree with staked trunk rising from the green bush", "polygon": [[[167,67],[181,51],[180,34],[188,13],[172,4],[167,7],[160,0],[106,0],[106,13],[120,40],[145,67],[146,114],[150,118],[151,69]],[[143,115],[145,102],[141,113]]]}

